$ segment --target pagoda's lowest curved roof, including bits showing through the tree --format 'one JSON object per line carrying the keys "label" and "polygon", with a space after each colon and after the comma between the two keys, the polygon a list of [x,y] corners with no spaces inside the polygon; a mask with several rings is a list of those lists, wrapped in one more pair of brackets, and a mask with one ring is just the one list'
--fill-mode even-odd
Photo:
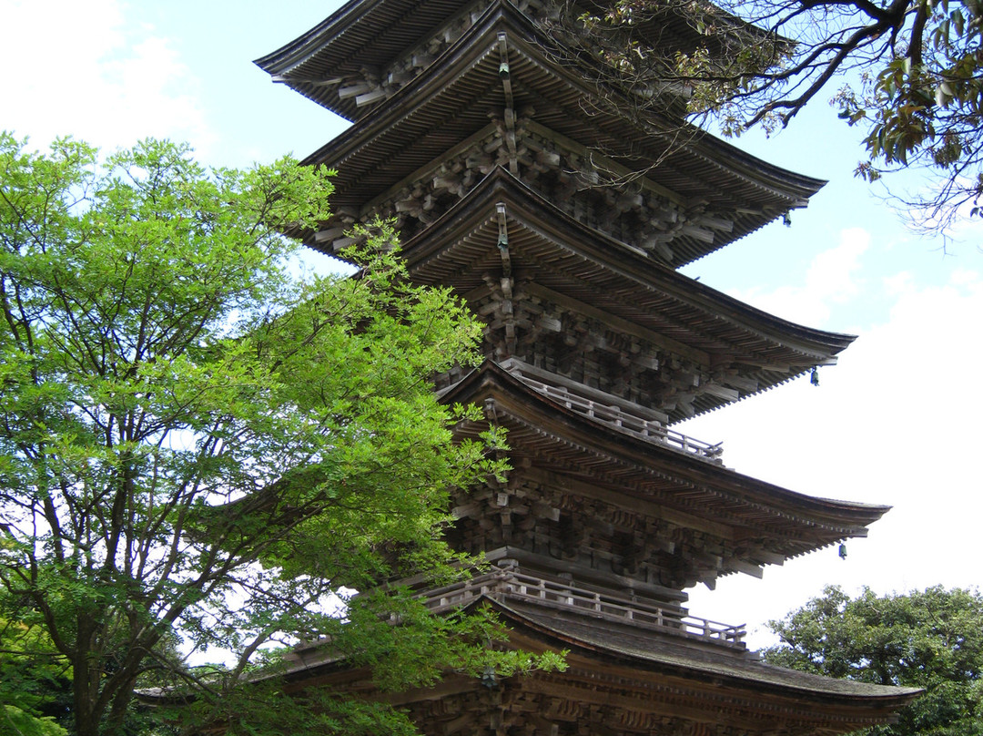
{"label": "pagoda's lowest curved roof, including bits showing through the tree", "polygon": [[[797,672],[728,650],[680,647],[671,637],[651,632],[612,632],[604,624],[519,609],[489,595],[476,597],[462,610],[473,613],[486,607],[504,625],[508,647],[565,652],[563,672],[538,670],[508,678],[506,687],[513,695],[548,688],[550,697],[560,702],[582,703],[586,696],[614,710],[630,704],[636,714],[672,713],[696,724],[726,722],[747,733],[768,733],[781,722],[795,733],[840,734],[893,722],[896,710],[923,692]],[[446,673],[434,688],[383,695],[369,667],[356,665],[323,642],[295,647],[284,664],[283,671],[254,681],[282,679],[288,693],[317,683],[411,710],[435,698],[450,702],[455,696],[488,694],[479,678]],[[629,693],[634,697],[625,698]],[[172,691],[162,689],[141,691],[139,697],[149,705],[176,701]],[[530,711],[516,704],[514,712]]]}

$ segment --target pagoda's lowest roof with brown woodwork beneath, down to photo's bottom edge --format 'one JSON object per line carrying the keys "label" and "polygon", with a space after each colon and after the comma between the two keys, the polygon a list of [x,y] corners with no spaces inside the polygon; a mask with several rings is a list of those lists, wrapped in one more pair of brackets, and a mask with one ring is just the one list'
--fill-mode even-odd
{"label": "pagoda's lowest roof with brown woodwork beneath, down to photo's bottom edge", "polygon": [[492,599],[472,605],[492,607],[508,627],[508,647],[565,650],[567,669],[497,678],[492,688],[448,673],[434,687],[385,694],[367,670],[305,647],[287,660],[287,692],[336,688],[405,708],[423,733],[441,736],[500,733],[495,726],[558,736],[585,726],[605,734],[764,735],[780,723],[784,734],[833,736],[893,721],[920,692],[785,670],[726,649],[612,631],[586,617],[556,618]]}

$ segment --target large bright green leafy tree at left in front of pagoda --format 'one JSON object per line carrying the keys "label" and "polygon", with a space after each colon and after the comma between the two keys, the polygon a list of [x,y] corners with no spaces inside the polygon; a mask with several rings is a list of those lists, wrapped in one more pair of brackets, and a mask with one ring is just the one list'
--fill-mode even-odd
{"label": "large bright green leafy tree at left in front of pagoda", "polygon": [[[281,232],[322,220],[330,191],[290,159],[209,171],[166,142],[100,162],[0,137],[0,588],[70,666],[78,736],[128,730],[135,691],[160,686],[236,732],[231,708],[263,692],[237,690],[298,639],[384,663],[388,687],[483,666],[480,617],[398,592],[350,601],[351,626],[330,612],[341,585],[449,575],[448,489],[502,470],[496,436],[452,441],[480,414],[429,382],[476,360],[480,329],[408,285],[391,231],[349,254],[356,278],[291,276]],[[231,663],[188,666],[211,650]],[[340,701],[297,717],[408,728]]]}

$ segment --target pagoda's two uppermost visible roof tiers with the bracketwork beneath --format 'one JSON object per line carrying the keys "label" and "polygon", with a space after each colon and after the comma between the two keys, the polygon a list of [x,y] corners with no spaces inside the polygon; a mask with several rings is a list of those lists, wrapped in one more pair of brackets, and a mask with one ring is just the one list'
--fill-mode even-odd
{"label": "pagoda's two uppermost visible roof tiers with the bracketwork beneath", "polygon": [[[619,108],[631,101],[618,105],[617,90],[595,101],[576,69],[556,63],[544,31],[509,2],[449,16],[446,3],[424,3],[408,12],[412,21],[386,5],[345,6],[258,62],[357,121],[308,158],[339,170],[339,223],[373,212],[415,230],[434,201],[460,196],[501,164],[521,168],[523,181],[553,202],[600,211],[596,222],[590,213],[578,218],[677,267],[804,206],[823,184],[678,120],[626,117]],[[456,23],[441,26],[448,17]],[[428,31],[417,35],[420,27]],[[595,186],[607,178],[630,185]],[[629,223],[637,232],[625,231]],[[318,242],[334,228],[326,232]]]}

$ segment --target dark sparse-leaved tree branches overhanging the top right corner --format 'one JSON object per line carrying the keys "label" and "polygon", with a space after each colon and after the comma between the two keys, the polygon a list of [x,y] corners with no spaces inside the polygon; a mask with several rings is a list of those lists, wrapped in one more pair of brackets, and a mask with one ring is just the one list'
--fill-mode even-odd
{"label": "dark sparse-leaved tree branches overhanging the top right corner", "polygon": [[[682,97],[727,135],[786,125],[816,98],[862,126],[873,181],[929,174],[905,204],[945,227],[983,214],[983,6],[977,0],[614,0],[580,19],[607,81]],[[673,24],[688,33],[663,32]],[[656,84],[658,83],[658,84]],[[661,93],[654,93],[659,91]]]}

